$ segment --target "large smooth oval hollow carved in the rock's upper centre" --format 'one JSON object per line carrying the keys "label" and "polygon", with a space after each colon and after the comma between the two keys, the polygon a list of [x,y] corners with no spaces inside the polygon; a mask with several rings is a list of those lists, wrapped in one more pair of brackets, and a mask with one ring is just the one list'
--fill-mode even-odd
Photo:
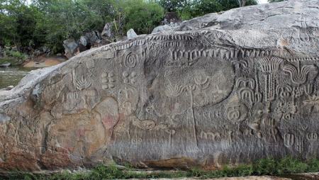
{"label": "large smooth oval hollow carved in the rock's upper centre", "polygon": [[183,101],[192,97],[196,107],[223,101],[233,91],[235,83],[231,62],[207,57],[199,57],[191,66],[166,67],[164,76],[166,96],[178,96]]}

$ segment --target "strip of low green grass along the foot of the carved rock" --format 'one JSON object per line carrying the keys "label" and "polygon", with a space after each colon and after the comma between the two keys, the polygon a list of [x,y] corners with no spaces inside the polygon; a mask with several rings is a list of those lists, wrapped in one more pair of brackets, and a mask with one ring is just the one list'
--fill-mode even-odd
{"label": "strip of low green grass along the foot of the carved rock", "polygon": [[[23,172],[11,172],[3,179],[50,179],[50,180],[89,180],[89,179],[158,179],[158,178],[179,178],[179,177],[198,177],[200,179],[234,177],[234,176],[283,176],[285,174],[298,174],[306,172],[319,171],[319,159],[310,159],[302,161],[293,157],[283,159],[260,159],[251,164],[240,164],[238,166],[226,165],[222,169],[205,171],[200,168],[190,169],[187,171],[155,171],[147,173],[146,171],[135,171],[132,167],[119,169],[111,165],[98,165],[90,171],[80,171],[71,173],[62,171],[56,174],[30,174]],[[1,179],[1,176],[0,176]],[[2,180],[2,179],[1,179]]]}

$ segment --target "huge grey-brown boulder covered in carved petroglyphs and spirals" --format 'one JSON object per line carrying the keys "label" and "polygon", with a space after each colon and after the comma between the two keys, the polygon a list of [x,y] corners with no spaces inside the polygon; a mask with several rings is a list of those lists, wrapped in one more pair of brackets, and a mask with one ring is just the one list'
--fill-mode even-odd
{"label": "huge grey-brown boulder covered in carved petroglyphs and spirals", "polygon": [[212,13],[0,92],[0,169],[319,156],[319,3]]}

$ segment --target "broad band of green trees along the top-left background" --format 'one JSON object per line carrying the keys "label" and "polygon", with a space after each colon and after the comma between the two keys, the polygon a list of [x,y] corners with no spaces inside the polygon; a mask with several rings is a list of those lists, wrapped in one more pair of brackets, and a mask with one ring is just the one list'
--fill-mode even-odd
{"label": "broad band of green trees along the top-left background", "polygon": [[37,48],[47,46],[62,52],[67,38],[79,39],[91,30],[103,30],[114,22],[118,35],[134,28],[150,33],[159,25],[164,10],[155,1],[144,0],[0,0],[0,45]]}

